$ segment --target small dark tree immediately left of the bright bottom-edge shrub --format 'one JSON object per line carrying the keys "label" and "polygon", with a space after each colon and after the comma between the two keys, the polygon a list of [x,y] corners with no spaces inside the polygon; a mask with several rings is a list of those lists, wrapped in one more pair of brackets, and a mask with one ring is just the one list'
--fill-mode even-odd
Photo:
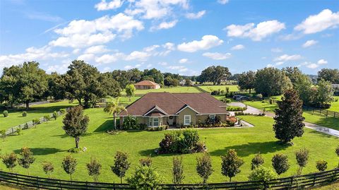
{"label": "small dark tree immediately left of the bright bottom-edge shrub", "polygon": [[117,177],[120,177],[120,183],[122,184],[122,177],[125,177],[126,171],[129,170],[131,163],[127,160],[127,153],[117,152],[114,156],[114,165],[111,166],[111,170]]}

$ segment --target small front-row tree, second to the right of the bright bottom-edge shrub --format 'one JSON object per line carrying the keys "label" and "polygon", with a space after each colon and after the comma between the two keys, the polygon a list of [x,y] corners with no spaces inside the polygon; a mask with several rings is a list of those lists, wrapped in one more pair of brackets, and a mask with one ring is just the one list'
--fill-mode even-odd
{"label": "small front-row tree, second to the right of the bright bottom-edge shrub", "polygon": [[204,153],[200,158],[196,158],[196,161],[196,172],[203,179],[203,184],[206,184],[208,177],[213,173],[210,155]]}

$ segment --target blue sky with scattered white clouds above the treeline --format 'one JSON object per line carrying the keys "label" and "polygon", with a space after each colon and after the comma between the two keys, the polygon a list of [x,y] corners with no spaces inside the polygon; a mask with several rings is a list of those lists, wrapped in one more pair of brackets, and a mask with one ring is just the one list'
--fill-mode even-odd
{"label": "blue sky with scattered white clouds above the treeline", "polygon": [[104,71],[196,75],[299,66],[339,68],[339,1],[0,1],[0,69],[39,61],[64,73],[73,59]]}

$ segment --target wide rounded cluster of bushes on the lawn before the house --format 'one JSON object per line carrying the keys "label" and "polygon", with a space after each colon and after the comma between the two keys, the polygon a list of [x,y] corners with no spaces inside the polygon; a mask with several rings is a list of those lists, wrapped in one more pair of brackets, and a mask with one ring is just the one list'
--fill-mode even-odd
{"label": "wide rounded cluster of bushes on the lawn before the house", "polygon": [[206,150],[205,143],[200,141],[198,131],[186,129],[166,133],[159,143],[157,153],[198,153]]}

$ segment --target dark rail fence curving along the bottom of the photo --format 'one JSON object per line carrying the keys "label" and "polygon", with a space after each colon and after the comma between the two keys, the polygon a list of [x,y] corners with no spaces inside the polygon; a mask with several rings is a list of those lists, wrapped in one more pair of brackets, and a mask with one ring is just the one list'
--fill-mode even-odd
{"label": "dark rail fence curving along the bottom of the photo", "polygon": [[[339,179],[339,168],[305,174],[301,176],[285,177],[264,181],[228,182],[214,184],[160,184],[162,189],[309,189],[314,186],[337,182]],[[0,182],[18,186],[28,186],[38,189],[133,189],[129,184],[114,184],[102,182],[76,182],[61,179],[49,179],[44,177],[33,177],[24,174],[14,174],[0,171]]]}

